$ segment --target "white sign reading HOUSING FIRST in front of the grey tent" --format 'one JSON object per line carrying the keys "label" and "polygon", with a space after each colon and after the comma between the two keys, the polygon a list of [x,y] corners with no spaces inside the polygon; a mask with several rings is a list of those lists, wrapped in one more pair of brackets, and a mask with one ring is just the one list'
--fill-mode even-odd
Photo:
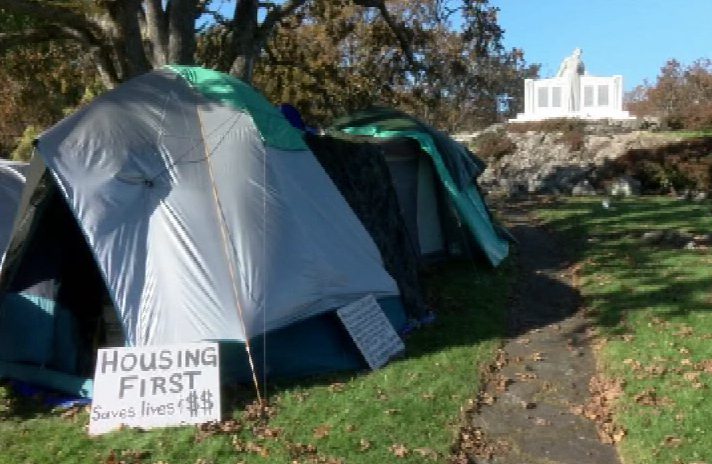
{"label": "white sign reading HOUSING FIRST in front of the grey tent", "polygon": [[89,434],[219,421],[219,366],[217,343],[100,349]]}

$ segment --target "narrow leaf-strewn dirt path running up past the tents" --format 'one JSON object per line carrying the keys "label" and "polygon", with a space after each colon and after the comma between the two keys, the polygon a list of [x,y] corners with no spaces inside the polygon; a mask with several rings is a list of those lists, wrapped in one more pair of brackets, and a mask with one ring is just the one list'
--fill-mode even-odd
{"label": "narrow leaf-strewn dirt path running up past the tents", "polygon": [[581,415],[595,365],[565,248],[529,217],[526,203],[499,214],[520,242],[512,338],[461,433],[461,462],[618,463],[613,446]]}

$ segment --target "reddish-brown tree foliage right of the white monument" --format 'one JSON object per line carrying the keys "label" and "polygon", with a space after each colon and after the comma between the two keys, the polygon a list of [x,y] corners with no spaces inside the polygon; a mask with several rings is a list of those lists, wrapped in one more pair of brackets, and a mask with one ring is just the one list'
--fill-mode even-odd
{"label": "reddish-brown tree foliage right of the white monument", "polygon": [[636,116],[659,117],[672,129],[712,129],[712,60],[701,58],[684,66],[671,59],[654,85],[646,82],[626,97]]}

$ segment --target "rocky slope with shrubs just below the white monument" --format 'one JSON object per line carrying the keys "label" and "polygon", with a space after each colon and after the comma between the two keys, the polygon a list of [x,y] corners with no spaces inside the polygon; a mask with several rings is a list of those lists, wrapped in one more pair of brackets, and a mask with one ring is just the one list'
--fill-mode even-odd
{"label": "rocky slope with shrubs just below the white monument", "polygon": [[460,140],[488,168],[491,194],[709,194],[712,137],[555,120],[494,125]]}

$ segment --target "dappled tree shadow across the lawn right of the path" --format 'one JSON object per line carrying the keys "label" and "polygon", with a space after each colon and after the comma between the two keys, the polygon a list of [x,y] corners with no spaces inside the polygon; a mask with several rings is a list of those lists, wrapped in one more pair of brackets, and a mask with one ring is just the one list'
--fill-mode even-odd
{"label": "dappled tree shadow across the lawn right of the path", "polygon": [[[709,250],[684,249],[642,239],[647,231],[712,231],[710,202],[672,198],[555,202],[549,226],[571,244],[573,259],[586,259],[587,299],[597,308],[596,322],[613,333],[625,332],[626,315],[655,308],[664,317],[712,310]],[[547,213],[549,214],[549,213]]]}

